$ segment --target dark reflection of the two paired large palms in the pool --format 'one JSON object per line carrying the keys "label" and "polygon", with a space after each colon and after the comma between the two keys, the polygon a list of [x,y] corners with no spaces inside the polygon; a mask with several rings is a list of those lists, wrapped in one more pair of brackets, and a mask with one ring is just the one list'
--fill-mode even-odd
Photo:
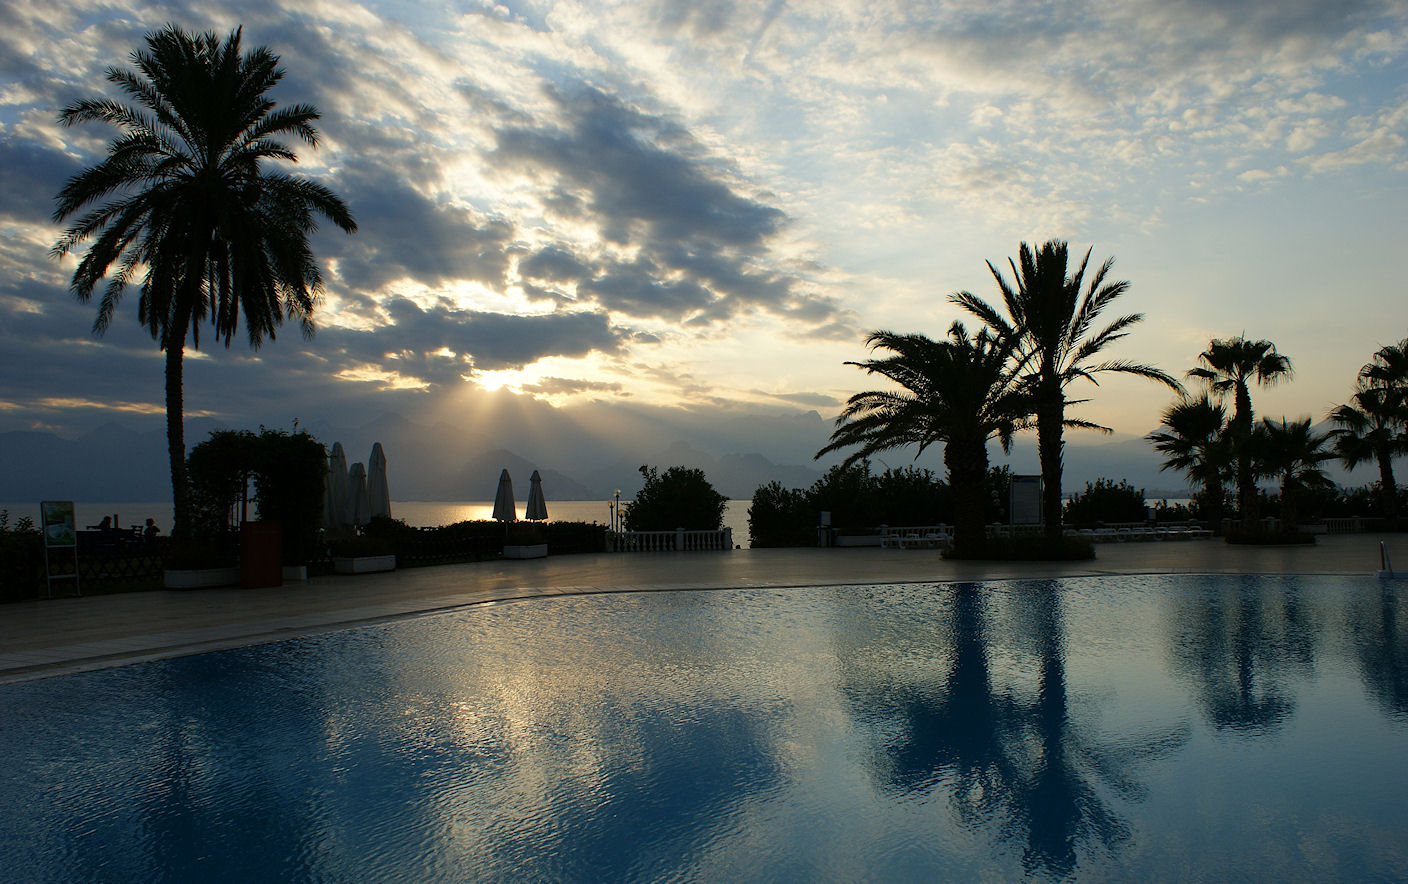
{"label": "dark reflection of the two paired large palms in the pool", "polygon": [[[957,819],[970,828],[994,825],[1000,838],[1022,845],[1031,874],[1067,876],[1083,846],[1111,850],[1129,828],[1110,795],[1140,800],[1146,790],[1128,769],[1167,757],[1188,740],[1188,725],[1101,738],[1071,719],[1066,691],[1062,594],[1055,584],[1028,584],[1021,602],[1022,646],[1038,664],[1035,698],[1017,686],[995,686],[984,601],[991,587],[959,584],[952,593],[941,684],[903,683],[863,667],[846,667],[843,691],[856,716],[883,745],[872,757],[879,787],[907,798],[945,790]],[[888,735],[890,739],[884,739]]]}

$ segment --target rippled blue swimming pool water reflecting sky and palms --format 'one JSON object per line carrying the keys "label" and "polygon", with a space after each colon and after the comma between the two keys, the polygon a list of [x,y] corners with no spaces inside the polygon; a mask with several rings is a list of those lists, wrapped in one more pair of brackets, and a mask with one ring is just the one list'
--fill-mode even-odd
{"label": "rippled blue swimming pool water reflecting sky and palms", "polygon": [[1408,880],[1408,604],[480,607],[0,687],[0,880]]}

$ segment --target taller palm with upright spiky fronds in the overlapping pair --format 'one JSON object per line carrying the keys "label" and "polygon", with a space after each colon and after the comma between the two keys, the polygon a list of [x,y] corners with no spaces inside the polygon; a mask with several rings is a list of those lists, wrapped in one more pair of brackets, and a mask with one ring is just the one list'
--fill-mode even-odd
{"label": "taller palm with upright spiky fronds in the overlapping pair", "polygon": [[1105,307],[1129,289],[1128,282],[1105,282],[1115,263],[1112,258],[1090,277],[1084,294],[1081,283],[1090,265],[1088,249],[1073,276],[1066,274],[1067,246],[1059,239],[1046,242],[1038,252],[1021,244],[1018,262],[1007,262],[1012,269],[1011,284],[993,262],[987,262],[1002,294],[1005,315],[969,291],[959,291],[949,300],[1012,341],[1018,359],[1026,363],[1024,374],[1035,398],[1036,449],[1042,466],[1042,522],[1049,536],[1060,536],[1062,434],[1066,427],[1110,432],[1108,427],[1066,417],[1066,405],[1084,401],[1067,400],[1066,387],[1076,380],[1098,384],[1095,376],[1105,372],[1148,377],[1176,391],[1183,387],[1155,366],[1125,359],[1093,362],[1101,351],[1128,335],[1131,325],[1143,320],[1142,314],[1128,314],[1094,331]]}

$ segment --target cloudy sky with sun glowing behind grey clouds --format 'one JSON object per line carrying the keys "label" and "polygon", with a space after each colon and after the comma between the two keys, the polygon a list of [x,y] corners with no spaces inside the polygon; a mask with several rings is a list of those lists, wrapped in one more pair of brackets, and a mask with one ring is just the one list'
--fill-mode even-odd
{"label": "cloudy sky with sun glowing behind grey clouds", "polygon": [[[994,297],[984,260],[1049,238],[1131,280],[1115,356],[1274,341],[1269,414],[1322,417],[1408,334],[1404,0],[10,0],[0,431],[162,411],[135,294],[94,338],[49,215],[111,135],[59,108],[165,23],[282,55],[276,97],[322,113],[300,169],[360,224],[318,234],[317,336],[207,338],[189,415],[472,422],[507,389],[829,418],[869,329],[942,335],[952,291]],[[1133,435],[1169,401],[1091,394]]]}

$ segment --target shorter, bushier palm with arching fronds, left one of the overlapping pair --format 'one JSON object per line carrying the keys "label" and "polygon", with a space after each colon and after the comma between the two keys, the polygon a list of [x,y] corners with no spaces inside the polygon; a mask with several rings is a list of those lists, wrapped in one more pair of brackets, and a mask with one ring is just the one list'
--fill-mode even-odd
{"label": "shorter, bushier palm with arching fronds, left one of the overlapping pair", "polygon": [[997,436],[1008,450],[1012,434],[1031,414],[1031,397],[1018,383],[1022,360],[1012,359],[1008,341],[987,328],[970,336],[962,322],[955,322],[943,341],[877,331],[866,345],[894,355],[846,365],[887,377],[900,390],[852,396],[817,457],[855,448],[845,460],[850,465],[910,445],[918,446],[918,457],[942,442],[956,510],[955,550],[974,555],[984,536],[987,441]]}

